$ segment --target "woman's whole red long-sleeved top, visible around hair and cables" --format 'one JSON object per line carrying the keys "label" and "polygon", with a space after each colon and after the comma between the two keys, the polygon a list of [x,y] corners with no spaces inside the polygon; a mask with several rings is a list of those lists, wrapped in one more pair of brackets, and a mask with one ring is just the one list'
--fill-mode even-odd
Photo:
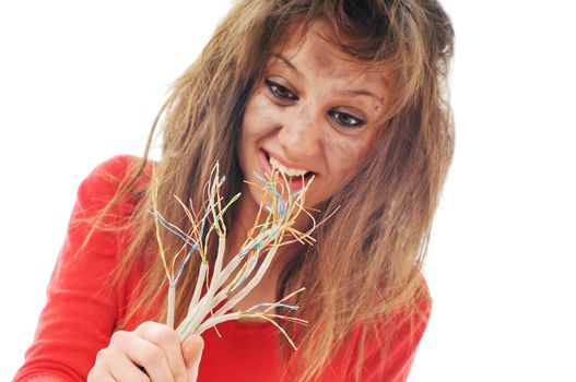
{"label": "woman's whole red long-sleeved top, visible around hair and cables", "polygon": [[[85,381],[96,353],[108,346],[116,322],[133,299],[142,267],[137,267],[118,289],[110,290],[108,275],[121,255],[118,234],[97,231],[81,255],[74,256],[87,231],[79,218],[93,216],[116,192],[118,179],[134,158],[117,156],[98,166],[80,186],[66,241],[48,285],[46,307],[39,318],[34,343],[14,381]],[[110,177],[111,175],[111,177]],[[133,204],[132,204],[133,206]],[[130,208],[124,205],[122,208]],[[129,210],[126,210],[129,211]],[[425,315],[430,307],[425,307]],[[401,318],[390,339],[389,356],[381,361],[376,341],[368,343],[361,381],[405,381],[416,346],[426,326],[419,320],[411,326]],[[139,322],[130,322],[133,330]],[[199,382],[280,381],[278,330],[269,323],[220,324],[202,334],[204,351]],[[353,381],[357,334],[351,333],[346,349],[338,351],[320,381]]]}

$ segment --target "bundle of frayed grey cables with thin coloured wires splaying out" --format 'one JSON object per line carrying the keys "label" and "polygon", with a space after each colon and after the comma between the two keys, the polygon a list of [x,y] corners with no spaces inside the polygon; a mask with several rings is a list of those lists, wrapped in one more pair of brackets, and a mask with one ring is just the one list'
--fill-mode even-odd
{"label": "bundle of frayed grey cables with thin coloured wires splaying out", "polygon": [[[255,224],[249,229],[244,244],[240,247],[227,264],[224,265],[224,253],[226,249],[226,226],[224,224],[224,213],[238,200],[240,194],[236,194],[225,205],[220,190],[224,184],[225,177],[220,176],[219,164],[213,167],[210,180],[205,187],[207,202],[204,203],[201,216],[197,216],[193,208],[187,206],[177,196],[176,200],[184,208],[187,217],[190,219],[191,229],[186,232],[176,225],[167,222],[157,210],[157,181],[153,170],[152,176],[152,208],[151,214],[154,216],[156,226],[156,238],[158,242],[158,253],[168,279],[167,297],[167,325],[174,327],[174,307],[176,299],[176,284],[185,272],[186,264],[190,256],[198,252],[201,256],[201,265],[196,282],[196,288],[189,303],[188,314],[180,322],[176,332],[180,341],[193,334],[202,334],[210,327],[230,320],[242,318],[259,318],[269,321],[275,325],[286,337],[292,347],[296,349],[294,342],[287,333],[277,322],[277,320],[289,320],[306,324],[302,319],[280,315],[271,312],[272,309],[282,307],[290,310],[297,310],[297,306],[284,303],[294,295],[304,290],[301,288],[277,302],[261,302],[245,311],[232,312],[243,298],[258,285],[265,276],[267,270],[272,263],[278,248],[284,244],[299,241],[302,243],[313,244],[314,239],[310,234],[317,224],[314,217],[304,210],[304,200],[306,191],[309,189],[314,178],[309,179],[304,187],[297,192],[291,192],[285,176],[278,171],[261,177],[257,175],[261,184],[252,184],[262,189],[262,199],[260,207],[255,219]],[[304,179],[303,179],[304,182]],[[307,214],[313,224],[311,228],[305,232],[298,231],[294,225],[299,213]],[[172,266],[166,262],[164,246],[161,239],[162,228],[176,235],[183,240],[180,251],[174,256]],[[209,248],[209,240],[218,236],[218,255],[214,264],[210,266],[205,249]],[[286,238],[292,238],[286,240]],[[183,256],[181,254],[185,253]],[[209,277],[209,270],[211,275]],[[232,277],[232,278],[231,278]],[[232,279],[232,282],[228,282]],[[205,284],[205,293],[202,288]]]}

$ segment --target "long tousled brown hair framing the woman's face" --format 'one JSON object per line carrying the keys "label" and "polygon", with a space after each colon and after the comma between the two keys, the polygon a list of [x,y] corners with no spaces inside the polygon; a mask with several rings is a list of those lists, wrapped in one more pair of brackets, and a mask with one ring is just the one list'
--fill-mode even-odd
{"label": "long tousled brown hair framing the woman's face", "polygon": [[[400,308],[414,313],[418,301],[430,302],[420,267],[454,150],[446,88],[454,31],[447,14],[433,0],[240,0],[197,61],[174,82],[149,139],[150,146],[154,129],[162,135],[156,165],[162,214],[186,230],[189,223],[173,195],[190,199],[200,210],[216,160],[226,175],[224,198],[239,192],[243,176],[231,153],[236,152],[247,99],[263,75],[262,63],[294,23],[302,23],[305,33],[319,20],[331,25],[334,45],[362,61],[385,63],[393,81],[389,118],[375,150],[357,176],[319,206],[320,219],[340,210],[316,231],[317,243],[287,264],[279,285],[282,296],[304,280],[307,293],[298,302],[314,307],[306,310],[307,329],[296,331],[303,381],[321,372],[358,324],[366,338],[372,323]],[[144,163],[145,157],[140,170]],[[129,186],[138,174],[119,194],[136,192]],[[166,290],[146,208],[148,199],[141,198],[117,273],[121,279],[134,263],[149,264],[132,314],[151,300],[162,300]],[[228,224],[234,214],[233,210],[226,216]],[[164,242],[167,254],[181,244],[169,235]],[[215,251],[210,256],[212,261]],[[186,315],[199,264],[193,258],[187,272],[191,276],[179,280],[176,322]],[[164,317],[165,309],[157,319]],[[357,372],[361,368],[358,357]]]}

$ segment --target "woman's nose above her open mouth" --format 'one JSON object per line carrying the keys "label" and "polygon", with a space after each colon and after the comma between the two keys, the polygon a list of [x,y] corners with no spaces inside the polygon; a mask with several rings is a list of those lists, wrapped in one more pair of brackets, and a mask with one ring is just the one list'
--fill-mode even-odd
{"label": "woman's nose above her open mouth", "polygon": [[321,144],[321,114],[306,106],[291,111],[279,132],[280,144],[292,160],[311,158]]}

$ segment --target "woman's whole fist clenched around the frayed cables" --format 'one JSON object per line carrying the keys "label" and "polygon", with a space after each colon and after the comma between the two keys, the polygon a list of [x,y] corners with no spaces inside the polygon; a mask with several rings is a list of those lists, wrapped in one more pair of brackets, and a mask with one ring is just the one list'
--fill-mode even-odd
{"label": "woman's whole fist clenched around the frayed cables", "polygon": [[196,382],[203,346],[199,335],[180,344],[174,330],[148,321],[133,332],[114,333],[87,381]]}

